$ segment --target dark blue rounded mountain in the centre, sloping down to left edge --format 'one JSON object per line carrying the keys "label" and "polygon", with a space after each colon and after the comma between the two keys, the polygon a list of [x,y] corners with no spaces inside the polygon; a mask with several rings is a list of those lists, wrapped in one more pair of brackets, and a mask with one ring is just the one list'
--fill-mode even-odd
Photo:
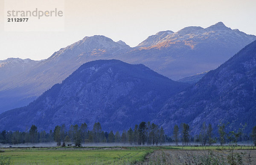
{"label": "dark blue rounded mountain in the centre, sloping down to left edge", "polygon": [[188,84],[175,82],[145,65],[96,60],[81,65],[26,107],[0,114],[0,130],[39,129],[100,122],[106,131],[151,121],[165,101]]}

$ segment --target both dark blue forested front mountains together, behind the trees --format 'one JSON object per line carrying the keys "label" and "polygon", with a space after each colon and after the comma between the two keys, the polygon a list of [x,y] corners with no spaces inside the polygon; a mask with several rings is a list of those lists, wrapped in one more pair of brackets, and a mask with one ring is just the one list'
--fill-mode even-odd
{"label": "both dark blue forested front mountains together, behind the trees", "polygon": [[172,134],[174,125],[190,125],[199,134],[203,122],[214,134],[220,123],[231,130],[256,116],[256,41],[230,60],[207,72],[197,83],[175,82],[145,65],[119,60],[96,60],[81,65],[61,84],[55,84],[28,106],[0,114],[0,130],[40,129],[102,123],[104,130],[122,131],[141,121],[151,121]]}

